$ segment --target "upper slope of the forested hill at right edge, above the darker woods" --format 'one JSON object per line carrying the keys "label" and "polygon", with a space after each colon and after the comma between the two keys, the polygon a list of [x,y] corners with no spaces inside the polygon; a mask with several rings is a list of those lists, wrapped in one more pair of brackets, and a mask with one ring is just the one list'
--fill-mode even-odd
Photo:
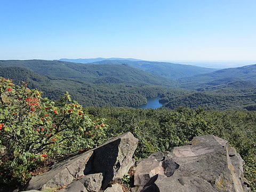
{"label": "upper slope of the forested hill at right edge, above the darker woods", "polygon": [[218,86],[234,82],[256,83],[256,65],[221,69],[212,73],[179,79],[180,86],[187,89],[202,89],[207,86]]}

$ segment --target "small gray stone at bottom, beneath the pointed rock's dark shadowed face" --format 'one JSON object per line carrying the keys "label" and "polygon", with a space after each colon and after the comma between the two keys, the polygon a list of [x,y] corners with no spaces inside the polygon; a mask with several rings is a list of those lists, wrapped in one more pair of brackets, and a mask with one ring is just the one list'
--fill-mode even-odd
{"label": "small gray stone at bottom, beneath the pointed rock's dark shadowed face", "polygon": [[98,192],[101,188],[101,182],[103,180],[102,173],[95,173],[95,174],[89,174],[85,175],[82,179],[79,181],[83,183],[87,191],[89,192]]}

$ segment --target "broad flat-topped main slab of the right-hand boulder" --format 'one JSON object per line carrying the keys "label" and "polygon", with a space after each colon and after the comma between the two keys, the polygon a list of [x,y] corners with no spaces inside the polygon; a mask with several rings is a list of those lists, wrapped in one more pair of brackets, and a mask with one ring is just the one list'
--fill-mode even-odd
{"label": "broad flat-topped main slab of the right-hand boulder", "polygon": [[213,135],[195,137],[192,145],[175,147],[166,161],[179,165],[174,177],[198,177],[217,191],[243,191],[228,155],[228,142]]}

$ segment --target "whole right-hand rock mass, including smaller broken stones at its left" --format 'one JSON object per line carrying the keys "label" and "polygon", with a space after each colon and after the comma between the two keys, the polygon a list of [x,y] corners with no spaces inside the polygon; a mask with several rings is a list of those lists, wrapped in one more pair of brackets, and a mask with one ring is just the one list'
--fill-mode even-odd
{"label": "whole right-hand rock mass, including smaller broken stones at its left", "polygon": [[[159,159],[151,159],[151,162]],[[135,170],[138,191],[249,191],[243,177],[243,159],[228,142],[204,135],[195,137],[190,145],[174,147],[161,161],[164,173],[158,173],[148,182],[137,180],[136,175],[147,171]],[[151,166],[154,169],[155,166]],[[142,188],[143,186],[143,188]],[[142,189],[141,189],[142,188]]]}

